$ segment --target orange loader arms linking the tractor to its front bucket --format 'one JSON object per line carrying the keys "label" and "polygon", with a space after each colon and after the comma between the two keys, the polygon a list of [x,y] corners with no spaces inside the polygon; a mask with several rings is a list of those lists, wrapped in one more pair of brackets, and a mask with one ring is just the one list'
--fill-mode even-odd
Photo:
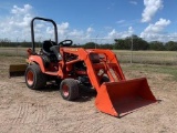
{"label": "orange loader arms linking the tractor to its front bucket", "polygon": [[63,59],[63,63],[65,64],[63,65],[63,69],[69,69],[70,64],[72,65],[75,62],[84,61],[90,81],[96,90],[101,86],[100,81],[102,76],[98,76],[98,72],[101,70],[104,71],[103,74],[106,75],[112,82],[125,80],[117,58],[111,50],[61,48],[60,53],[62,57],[65,57],[65,53],[77,55],[75,60],[71,61],[65,61],[65,59]]}

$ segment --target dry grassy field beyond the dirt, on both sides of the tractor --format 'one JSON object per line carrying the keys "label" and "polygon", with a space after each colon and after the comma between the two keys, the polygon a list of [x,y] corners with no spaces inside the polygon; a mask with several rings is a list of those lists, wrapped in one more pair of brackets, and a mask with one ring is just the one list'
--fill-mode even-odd
{"label": "dry grassy field beyond the dirt, on both sides of the tractor", "polygon": [[[23,63],[25,51],[27,48],[0,48],[0,61],[8,60],[9,63]],[[173,80],[177,81],[177,52],[133,51],[133,64],[129,64],[132,51],[115,50],[113,52],[122,64],[126,64],[126,66],[123,66],[125,70],[166,73],[173,75]]]}

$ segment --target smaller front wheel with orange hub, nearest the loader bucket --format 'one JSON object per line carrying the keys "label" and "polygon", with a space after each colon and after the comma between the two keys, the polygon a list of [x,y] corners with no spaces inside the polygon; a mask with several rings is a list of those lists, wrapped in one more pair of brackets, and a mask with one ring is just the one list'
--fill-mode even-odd
{"label": "smaller front wheel with orange hub, nearest the loader bucket", "polygon": [[64,100],[73,101],[79,98],[79,83],[74,79],[65,79],[60,84],[60,92]]}

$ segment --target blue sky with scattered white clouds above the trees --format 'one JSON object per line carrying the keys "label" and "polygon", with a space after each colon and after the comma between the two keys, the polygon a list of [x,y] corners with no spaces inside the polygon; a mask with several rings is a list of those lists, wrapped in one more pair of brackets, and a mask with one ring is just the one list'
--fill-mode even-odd
{"label": "blue sky with scattered white clouds above the trees", "polygon": [[[1,0],[0,39],[31,41],[30,22],[42,17],[56,22],[59,41],[177,41],[175,9],[176,0]],[[51,23],[35,21],[34,31],[35,41],[53,40]]]}

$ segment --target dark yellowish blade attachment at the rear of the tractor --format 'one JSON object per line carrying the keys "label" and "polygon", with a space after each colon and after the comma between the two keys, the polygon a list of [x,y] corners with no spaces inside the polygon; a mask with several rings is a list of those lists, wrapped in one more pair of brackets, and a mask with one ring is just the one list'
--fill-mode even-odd
{"label": "dark yellowish blade attachment at the rear of the tractor", "polygon": [[10,64],[9,78],[24,75],[27,64]]}

